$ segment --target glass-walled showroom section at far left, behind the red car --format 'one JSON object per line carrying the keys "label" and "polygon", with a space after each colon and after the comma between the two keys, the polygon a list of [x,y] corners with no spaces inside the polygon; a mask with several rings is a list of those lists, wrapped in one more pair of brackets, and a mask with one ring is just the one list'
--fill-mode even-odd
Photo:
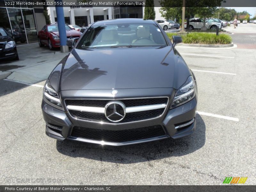
{"label": "glass-walled showroom section at far left, behind the red car", "polygon": [[12,33],[17,45],[36,43],[38,30],[45,25],[43,6],[34,7],[32,2],[0,0],[0,27]]}

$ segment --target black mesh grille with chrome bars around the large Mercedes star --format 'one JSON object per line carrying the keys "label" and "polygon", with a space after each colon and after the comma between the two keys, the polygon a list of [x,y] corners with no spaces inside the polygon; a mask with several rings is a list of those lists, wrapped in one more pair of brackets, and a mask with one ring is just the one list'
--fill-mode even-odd
{"label": "black mesh grille with chrome bars around the large Mercedes star", "polygon": [[[109,101],[94,99],[66,99],[69,114],[76,119],[98,123],[113,123],[105,116],[105,106]],[[158,118],[164,114],[168,97],[119,99],[126,107],[126,115],[120,123]],[[115,123],[116,124],[116,123]]]}

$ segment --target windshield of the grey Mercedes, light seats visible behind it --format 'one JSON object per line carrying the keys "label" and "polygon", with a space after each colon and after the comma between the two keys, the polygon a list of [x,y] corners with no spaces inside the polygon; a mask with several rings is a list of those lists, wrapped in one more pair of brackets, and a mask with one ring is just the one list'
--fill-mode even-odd
{"label": "windshield of the grey Mercedes, light seats visible behind it", "polygon": [[82,36],[77,49],[118,46],[166,46],[161,30],[154,24],[93,25]]}

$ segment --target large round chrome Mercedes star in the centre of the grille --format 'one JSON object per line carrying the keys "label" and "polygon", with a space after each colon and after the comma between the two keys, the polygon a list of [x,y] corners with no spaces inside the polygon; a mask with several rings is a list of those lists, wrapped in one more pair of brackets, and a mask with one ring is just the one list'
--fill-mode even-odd
{"label": "large round chrome Mercedes star in the centre of the grille", "polygon": [[124,103],[121,101],[109,101],[105,106],[105,116],[112,122],[123,120],[125,116]]}

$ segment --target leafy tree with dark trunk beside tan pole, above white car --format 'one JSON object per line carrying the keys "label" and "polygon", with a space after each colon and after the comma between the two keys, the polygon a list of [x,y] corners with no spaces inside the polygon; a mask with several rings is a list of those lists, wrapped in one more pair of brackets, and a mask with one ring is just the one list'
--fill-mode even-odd
{"label": "leafy tree with dark trunk beside tan pole, above white car", "polygon": [[[182,7],[182,0],[160,0],[159,2],[162,7]],[[191,15],[198,14],[202,7],[218,7],[222,2],[225,2],[225,0],[185,0],[185,2],[185,17],[187,19],[187,29],[189,29],[189,19]]]}

